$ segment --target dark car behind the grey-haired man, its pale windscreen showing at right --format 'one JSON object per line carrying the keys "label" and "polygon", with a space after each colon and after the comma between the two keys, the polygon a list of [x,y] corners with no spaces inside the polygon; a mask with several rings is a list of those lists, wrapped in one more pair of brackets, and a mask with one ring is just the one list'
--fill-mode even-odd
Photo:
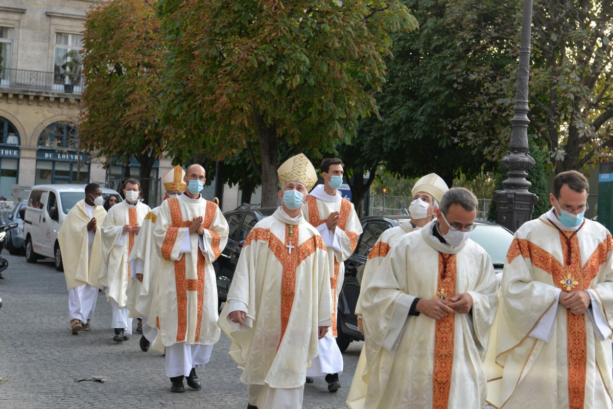
{"label": "dark car behind the grey-haired man, its pale windscreen showing at right", "polygon": [[[360,283],[368,253],[381,233],[390,227],[399,226],[409,216],[366,216],[360,218],[362,230],[356,251],[345,261],[345,280],[338,295],[337,344],[345,351],[352,341],[363,341],[364,335],[357,327],[356,303],[360,295]],[[506,252],[511,246],[513,234],[506,227],[489,221],[476,220],[477,227],[470,232],[470,238],[487,251],[498,277],[502,273]],[[500,281],[500,278],[499,280]]]}

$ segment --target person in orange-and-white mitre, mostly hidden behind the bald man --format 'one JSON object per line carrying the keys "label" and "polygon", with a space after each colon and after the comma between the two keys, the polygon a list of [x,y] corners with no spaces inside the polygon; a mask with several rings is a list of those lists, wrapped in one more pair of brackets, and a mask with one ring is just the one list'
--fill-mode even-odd
{"label": "person in orange-and-white mitre, mostly hidden behind the bald man", "polygon": [[[178,197],[185,192],[185,170],[181,166],[170,169],[161,178],[166,190],[164,200]],[[149,350],[151,342],[158,335],[158,267],[160,257],[155,249],[153,227],[158,220],[161,206],[147,213],[140,227],[139,235],[130,252],[130,281],[128,283],[128,305],[131,318],[141,317],[143,335],[139,345],[143,352]]]}

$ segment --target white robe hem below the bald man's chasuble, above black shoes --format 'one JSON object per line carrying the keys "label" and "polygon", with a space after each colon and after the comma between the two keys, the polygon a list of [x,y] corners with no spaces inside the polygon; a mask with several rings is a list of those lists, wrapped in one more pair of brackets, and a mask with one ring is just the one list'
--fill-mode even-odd
{"label": "white robe hem below the bald man's chasuble, above black shoes", "polygon": [[[149,339],[149,338],[147,338]],[[169,378],[189,376],[192,368],[202,368],[211,359],[213,345],[173,343],[166,347],[166,376]]]}

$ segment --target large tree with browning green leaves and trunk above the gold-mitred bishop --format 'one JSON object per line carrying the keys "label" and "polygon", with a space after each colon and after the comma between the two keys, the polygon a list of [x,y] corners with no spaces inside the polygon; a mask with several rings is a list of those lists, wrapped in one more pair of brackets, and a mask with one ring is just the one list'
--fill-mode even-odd
{"label": "large tree with browning green leaves and trunk above the gold-mitred bishop", "polygon": [[390,32],[416,28],[398,0],[159,0],[169,50],[165,117],[185,143],[223,158],[246,148],[276,204],[282,141],[333,150],[376,113]]}

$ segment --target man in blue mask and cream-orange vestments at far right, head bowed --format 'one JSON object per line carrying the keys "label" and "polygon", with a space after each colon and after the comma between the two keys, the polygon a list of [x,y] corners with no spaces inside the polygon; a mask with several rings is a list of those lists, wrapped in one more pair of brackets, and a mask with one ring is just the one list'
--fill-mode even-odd
{"label": "man in blue mask and cream-orange vestments at far right, head bowed", "polygon": [[497,408],[613,408],[613,240],[584,218],[588,188],[558,174],[551,210],[515,233],[486,361]]}

